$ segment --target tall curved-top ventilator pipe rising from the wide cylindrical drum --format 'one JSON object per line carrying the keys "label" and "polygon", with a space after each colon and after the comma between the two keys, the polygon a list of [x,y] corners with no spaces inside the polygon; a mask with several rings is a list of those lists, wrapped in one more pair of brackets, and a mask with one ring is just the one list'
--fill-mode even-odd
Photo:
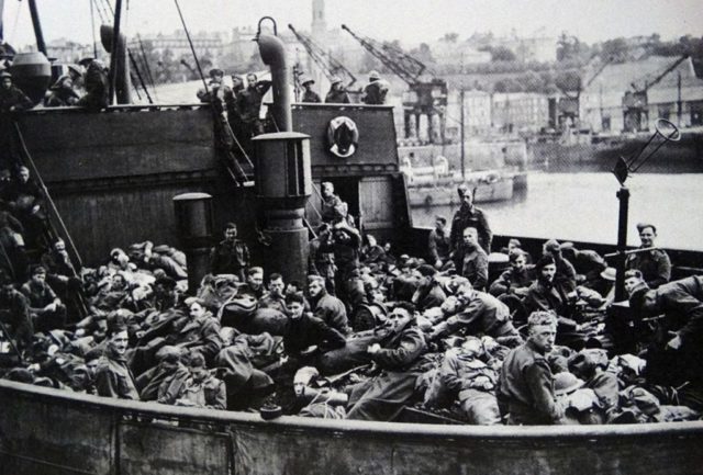
{"label": "tall curved-top ventilator pipe rising from the wide cylindrical drum", "polygon": [[272,115],[279,132],[292,132],[293,121],[290,112],[290,70],[286,59],[286,45],[277,36],[258,34],[261,60],[271,69],[274,89]]}

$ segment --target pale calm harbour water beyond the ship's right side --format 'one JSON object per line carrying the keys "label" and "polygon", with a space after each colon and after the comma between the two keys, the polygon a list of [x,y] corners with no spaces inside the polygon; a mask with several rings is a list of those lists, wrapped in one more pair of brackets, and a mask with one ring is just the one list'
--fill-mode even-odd
{"label": "pale calm harbour water beyond the ship's right side", "polygon": [[[627,179],[631,191],[628,244],[639,245],[635,224],[657,226],[657,244],[703,250],[703,174],[641,173]],[[531,172],[522,201],[479,203],[493,233],[537,238],[615,244],[620,189],[612,173]],[[415,226],[434,226],[435,215],[451,220],[456,207],[413,208]]]}

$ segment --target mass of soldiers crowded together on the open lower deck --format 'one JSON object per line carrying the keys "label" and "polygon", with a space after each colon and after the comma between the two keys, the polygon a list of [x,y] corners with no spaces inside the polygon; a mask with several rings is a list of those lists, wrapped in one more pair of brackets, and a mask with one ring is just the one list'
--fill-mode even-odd
{"label": "mass of soldiers crowded together on the open lower deck", "polygon": [[[286,414],[382,421],[413,409],[477,425],[700,417],[703,279],[669,282],[654,225],[638,226],[643,246],[627,260],[623,305],[595,251],[550,239],[533,263],[513,239],[490,252],[488,217],[470,190],[458,191],[450,230],[438,218],[427,255],[413,258],[364,236],[324,183],[306,282],[253,263],[230,223],[211,274],[189,297],[174,248],[114,249],[77,276],[56,242],[20,291],[3,278],[3,335],[18,360],[4,377],[163,404],[276,404]],[[77,281],[81,319],[47,291]],[[48,299],[31,303],[41,290]],[[628,307],[625,317],[618,306]]]}

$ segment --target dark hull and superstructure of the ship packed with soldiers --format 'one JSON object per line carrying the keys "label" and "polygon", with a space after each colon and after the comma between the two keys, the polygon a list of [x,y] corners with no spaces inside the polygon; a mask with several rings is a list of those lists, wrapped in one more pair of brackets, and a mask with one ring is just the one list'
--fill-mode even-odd
{"label": "dark hull and superstructure of the ship packed with soldiers", "polygon": [[[277,52],[263,49],[272,76],[284,77],[276,38],[261,35],[258,41],[261,48],[268,45]],[[100,113],[75,108],[32,111],[18,116],[16,128],[10,132],[35,176],[43,179],[56,215],[89,265],[115,245],[149,237],[182,244],[189,264],[197,268],[214,229],[236,220],[255,260],[269,269],[282,265],[287,279],[295,278],[305,251],[292,246],[301,236],[306,242],[309,233],[300,210],[308,207],[304,215],[314,227],[312,207],[320,201],[309,179],[334,182],[366,231],[392,240],[400,250],[424,255],[429,229],[412,225],[391,108],[288,106],[280,83],[275,88],[275,97],[283,97],[272,104],[276,114],[283,114],[278,122],[284,124],[284,114],[290,113],[297,133],[261,139],[260,152],[270,154],[270,147],[276,154],[266,155],[270,161],[255,157],[254,183],[235,183],[226,172],[215,147],[213,115],[202,104],[115,105]],[[346,157],[332,152],[335,144],[328,139],[331,124],[341,116],[356,124],[359,137],[356,152]],[[284,140],[299,144],[291,146],[295,151],[281,148]],[[261,174],[263,169],[268,174]],[[278,194],[268,195],[269,186]],[[185,195],[200,200],[188,210],[190,214],[181,213],[182,203],[174,203],[175,196]],[[305,205],[308,195],[312,204]],[[282,206],[286,200],[289,205]],[[189,218],[198,222],[200,234],[183,226]],[[267,246],[257,239],[261,230],[291,247],[281,252]],[[496,245],[506,240],[496,237]],[[525,239],[524,245],[531,249],[540,242]],[[700,252],[671,250],[670,255],[678,273],[703,268]],[[703,422],[483,428],[299,417],[265,420],[259,414],[124,402],[2,380],[0,400],[0,466],[8,474],[695,474],[703,470],[699,450]]]}

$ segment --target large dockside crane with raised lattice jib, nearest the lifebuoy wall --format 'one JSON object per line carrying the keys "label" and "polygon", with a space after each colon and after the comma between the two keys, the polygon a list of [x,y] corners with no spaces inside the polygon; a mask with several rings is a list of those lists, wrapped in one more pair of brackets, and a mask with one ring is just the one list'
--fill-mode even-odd
{"label": "large dockside crane with raised lattice jib, nearest the lifebuoy wall", "polygon": [[[380,43],[370,37],[362,37],[354,33],[347,25],[342,25],[359,44],[371,55],[378,58],[395,76],[408,83],[409,91],[403,94],[403,120],[405,125],[405,138],[420,132],[421,115],[427,116],[427,137],[431,143],[444,143],[444,110],[447,106],[447,81],[435,78],[427,67],[419,59],[410,56],[401,49]],[[427,72],[431,80],[424,80],[423,75]],[[439,134],[435,137],[433,117],[439,117]],[[411,117],[414,116],[414,131]],[[414,132],[414,134],[413,134]]]}

